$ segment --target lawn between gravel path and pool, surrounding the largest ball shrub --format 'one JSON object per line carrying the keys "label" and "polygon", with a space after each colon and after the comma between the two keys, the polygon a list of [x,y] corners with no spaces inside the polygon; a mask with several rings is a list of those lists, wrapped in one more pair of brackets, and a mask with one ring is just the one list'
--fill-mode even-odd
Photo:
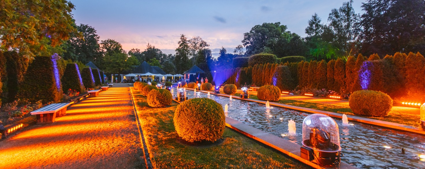
{"label": "lawn between gravel path and pool, surrounding the largest ball shrub", "polygon": [[132,91],[154,168],[309,168],[227,127],[221,144],[183,144],[173,124],[178,103],[173,102],[166,108],[150,108],[146,97]]}

